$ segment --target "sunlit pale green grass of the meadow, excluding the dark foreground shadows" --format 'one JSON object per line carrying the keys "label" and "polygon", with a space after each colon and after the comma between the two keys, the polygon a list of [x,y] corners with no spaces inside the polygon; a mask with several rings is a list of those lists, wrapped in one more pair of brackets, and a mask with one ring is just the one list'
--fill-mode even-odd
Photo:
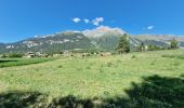
{"label": "sunlit pale green grass of the meadow, excluding the dark foreground shadows", "polygon": [[71,57],[1,68],[0,92],[37,91],[51,97],[74,95],[81,98],[126,96],[124,90],[131,82],[141,82],[142,77],[184,73],[184,59],[166,55],[184,55],[184,51]]}

